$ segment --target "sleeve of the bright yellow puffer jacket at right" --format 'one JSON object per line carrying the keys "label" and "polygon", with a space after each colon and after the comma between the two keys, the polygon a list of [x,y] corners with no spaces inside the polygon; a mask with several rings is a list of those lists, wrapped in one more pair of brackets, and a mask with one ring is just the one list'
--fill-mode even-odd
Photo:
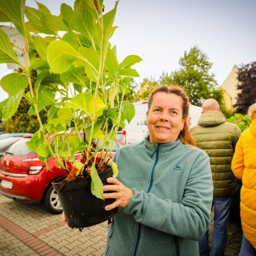
{"label": "sleeve of the bright yellow puffer jacket at right", "polygon": [[238,140],[238,143],[236,144],[231,169],[236,178],[242,179],[244,173],[244,150],[242,148],[242,139]]}

